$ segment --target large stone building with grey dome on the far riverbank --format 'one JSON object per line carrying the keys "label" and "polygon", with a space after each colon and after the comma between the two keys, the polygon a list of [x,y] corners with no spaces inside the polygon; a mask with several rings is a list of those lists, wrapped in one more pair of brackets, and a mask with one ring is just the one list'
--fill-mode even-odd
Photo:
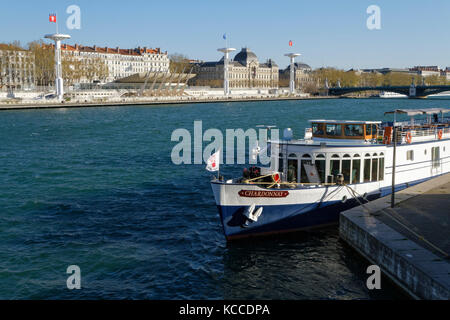
{"label": "large stone building with grey dome on the far riverbank", "polygon": [[[191,83],[200,86],[223,86],[223,57],[217,62],[196,63],[197,76]],[[259,63],[256,54],[242,48],[228,64],[230,88],[278,88],[278,65],[271,59]]]}

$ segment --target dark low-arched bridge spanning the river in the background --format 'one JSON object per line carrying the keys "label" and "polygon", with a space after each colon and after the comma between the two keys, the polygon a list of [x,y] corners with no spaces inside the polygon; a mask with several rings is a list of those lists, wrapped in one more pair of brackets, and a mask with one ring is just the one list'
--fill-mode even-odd
{"label": "dark low-arched bridge spanning the river in the background", "polygon": [[431,94],[436,94],[444,91],[450,91],[450,85],[438,86],[379,86],[379,87],[333,87],[328,88],[328,94],[333,96],[341,96],[347,93],[359,91],[389,91],[407,95],[410,98],[422,98]]}

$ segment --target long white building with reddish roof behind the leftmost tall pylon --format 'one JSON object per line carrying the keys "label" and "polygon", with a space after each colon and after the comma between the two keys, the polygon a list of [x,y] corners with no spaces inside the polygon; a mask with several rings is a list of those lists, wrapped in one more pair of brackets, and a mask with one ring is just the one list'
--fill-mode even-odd
{"label": "long white building with reddish roof behind the leftmost tall pylon", "polygon": [[[142,72],[167,72],[170,60],[166,52],[160,48],[151,49],[138,47],[134,49],[120,49],[108,47],[88,47],[78,44],[71,46],[61,45],[61,54],[66,63],[79,63],[81,69],[91,69],[84,72],[79,83],[113,82],[121,78],[129,77]],[[101,64],[101,66],[99,65]],[[97,65],[97,68],[89,68]],[[71,69],[75,66],[72,65]]]}

